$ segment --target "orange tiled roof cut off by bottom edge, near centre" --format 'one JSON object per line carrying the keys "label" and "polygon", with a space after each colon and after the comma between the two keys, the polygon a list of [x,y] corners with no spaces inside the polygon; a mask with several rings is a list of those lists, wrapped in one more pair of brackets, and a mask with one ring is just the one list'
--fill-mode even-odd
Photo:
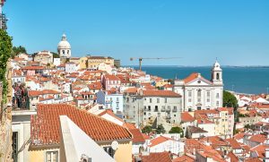
{"label": "orange tiled roof cut off by bottom edge, near centre", "polygon": [[172,162],[169,152],[155,152],[141,156],[142,162]]}

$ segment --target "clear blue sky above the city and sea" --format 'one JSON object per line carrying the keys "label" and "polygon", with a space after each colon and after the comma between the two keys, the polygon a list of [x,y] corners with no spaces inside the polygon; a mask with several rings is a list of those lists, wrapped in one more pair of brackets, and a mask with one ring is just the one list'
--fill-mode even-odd
{"label": "clear blue sky above the city and sea", "polygon": [[56,51],[63,32],[73,56],[172,57],[149,65],[269,65],[268,0],[8,0],[15,46]]}

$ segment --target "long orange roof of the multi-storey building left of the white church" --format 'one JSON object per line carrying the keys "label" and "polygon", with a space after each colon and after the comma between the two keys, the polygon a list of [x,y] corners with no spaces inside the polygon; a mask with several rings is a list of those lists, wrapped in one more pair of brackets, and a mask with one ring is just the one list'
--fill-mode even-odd
{"label": "long orange roof of the multi-storey building left of the white church", "polygon": [[171,90],[143,90],[144,97],[181,98],[181,95]]}

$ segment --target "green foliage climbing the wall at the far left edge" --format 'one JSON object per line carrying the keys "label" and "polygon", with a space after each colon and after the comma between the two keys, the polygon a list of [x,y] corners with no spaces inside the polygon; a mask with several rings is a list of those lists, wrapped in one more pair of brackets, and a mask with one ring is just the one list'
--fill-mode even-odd
{"label": "green foliage climbing the wall at the far left edge", "polygon": [[7,81],[5,77],[6,65],[12,53],[12,38],[6,31],[0,30],[0,81],[3,82],[3,101],[6,103]]}

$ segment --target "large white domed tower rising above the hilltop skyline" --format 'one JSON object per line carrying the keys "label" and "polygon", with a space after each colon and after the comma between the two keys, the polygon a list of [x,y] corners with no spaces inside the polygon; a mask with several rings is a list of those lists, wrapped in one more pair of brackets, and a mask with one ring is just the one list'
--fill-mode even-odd
{"label": "large white domed tower rising above the hilltop skyline", "polygon": [[57,51],[61,60],[71,57],[71,46],[67,41],[65,34],[63,34],[62,40],[58,43]]}

